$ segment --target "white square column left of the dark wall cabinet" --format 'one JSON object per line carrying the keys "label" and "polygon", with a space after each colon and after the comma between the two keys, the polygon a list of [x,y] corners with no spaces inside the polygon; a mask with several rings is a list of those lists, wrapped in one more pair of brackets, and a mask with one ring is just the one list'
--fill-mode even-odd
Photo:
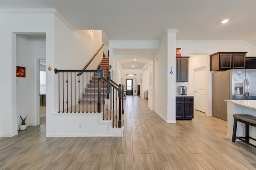
{"label": "white square column left of the dark wall cabinet", "polygon": [[[176,33],[178,30],[167,32],[167,122],[176,123]],[[171,74],[171,70],[173,73]]]}

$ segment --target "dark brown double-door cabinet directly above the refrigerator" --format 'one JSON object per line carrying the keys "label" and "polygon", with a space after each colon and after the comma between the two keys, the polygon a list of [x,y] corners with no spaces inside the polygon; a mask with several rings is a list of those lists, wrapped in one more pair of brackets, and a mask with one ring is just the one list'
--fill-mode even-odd
{"label": "dark brown double-door cabinet directly above the refrigerator", "polygon": [[218,52],[210,55],[211,71],[244,69],[246,53],[247,52]]}

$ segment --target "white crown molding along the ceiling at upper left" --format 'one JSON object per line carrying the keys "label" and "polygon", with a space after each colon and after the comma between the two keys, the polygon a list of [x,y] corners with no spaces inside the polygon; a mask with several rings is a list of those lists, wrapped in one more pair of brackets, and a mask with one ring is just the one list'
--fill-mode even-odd
{"label": "white crown molding along the ceiling at upper left", "polygon": [[74,31],[67,20],[54,8],[0,8],[1,14],[54,14],[57,16],[70,30]]}

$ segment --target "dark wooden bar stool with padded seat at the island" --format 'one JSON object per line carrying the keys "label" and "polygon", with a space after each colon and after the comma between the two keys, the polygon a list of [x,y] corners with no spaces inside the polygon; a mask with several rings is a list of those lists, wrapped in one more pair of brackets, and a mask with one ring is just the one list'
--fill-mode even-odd
{"label": "dark wooden bar stool with padded seat at the island", "polygon": [[[239,139],[247,144],[250,144],[251,146],[256,147],[256,145],[249,143],[249,139],[256,141],[255,138],[252,138],[249,136],[249,126],[256,127],[256,117],[252,115],[246,115],[246,114],[234,114],[233,117],[234,117],[234,126],[233,126],[232,142],[236,142],[236,139]],[[245,136],[240,136],[240,137],[236,136],[237,122],[242,122],[245,124]]]}

